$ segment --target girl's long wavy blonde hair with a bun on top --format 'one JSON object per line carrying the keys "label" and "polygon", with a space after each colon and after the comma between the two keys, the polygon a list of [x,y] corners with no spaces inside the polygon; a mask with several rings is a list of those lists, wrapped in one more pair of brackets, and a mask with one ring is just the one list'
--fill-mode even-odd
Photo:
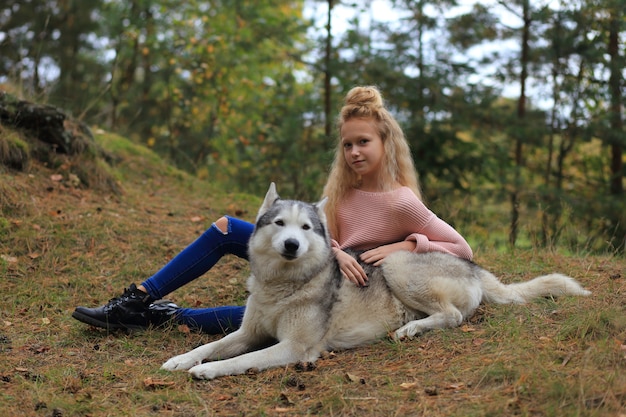
{"label": "girl's long wavy blonde hair with a bun on top", "polygon": [[358,187],[361,182],[360,176],[346,162],[341,143],[342,126],[354,118],[372,119],[378,128],[385,152],[384,169],[379,178],[381,190],[391,191],[394,186],[400,184],[409,187],[417,198],[422,199],[409,144],[400,125],[385,108],[380,91],[375,86],[354,87],[346,94],[344,105],[337,118],[335,159],[324,187],[324,196],[328,197],[325,208],[331,236],[337,236],[338,232],[335,213],[339,201],[350,189]]}

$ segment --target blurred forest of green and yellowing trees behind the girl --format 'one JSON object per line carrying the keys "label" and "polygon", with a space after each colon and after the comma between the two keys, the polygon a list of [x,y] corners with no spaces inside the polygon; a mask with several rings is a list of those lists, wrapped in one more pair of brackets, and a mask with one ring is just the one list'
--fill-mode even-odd
{"label": "blurred forest of green and yellowing trees behind the girl", "polygon": [[474,248],[624,251],[625,0],[0,5],[3,89],[207,181],[318,199],[341,97],[375,84]]}

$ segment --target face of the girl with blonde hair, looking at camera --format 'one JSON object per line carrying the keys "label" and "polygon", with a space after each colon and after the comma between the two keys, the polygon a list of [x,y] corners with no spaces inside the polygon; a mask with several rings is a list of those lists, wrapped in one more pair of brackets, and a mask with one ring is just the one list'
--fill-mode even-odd
{"label": "face of the girl with blonde hair, looking at camera", "polygon": [[346,163],[363,181],[375,181],[383,164],[385,149],[372,119],[350,119],[341,127],[341,145]]}

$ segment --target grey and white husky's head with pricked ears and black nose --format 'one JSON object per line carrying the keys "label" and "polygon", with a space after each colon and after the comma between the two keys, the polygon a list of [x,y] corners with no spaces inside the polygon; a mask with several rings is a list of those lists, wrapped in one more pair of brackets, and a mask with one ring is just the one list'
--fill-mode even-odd
{"label": "grey and white husky's head with pricked ears and black nose", "polygon": [[271,183],[257,214],[251,251],[266,255],[271,251],[283,261],[327,256],[330,238],[324,213],[326,201],[324,198],[309,204],[283,200]]}

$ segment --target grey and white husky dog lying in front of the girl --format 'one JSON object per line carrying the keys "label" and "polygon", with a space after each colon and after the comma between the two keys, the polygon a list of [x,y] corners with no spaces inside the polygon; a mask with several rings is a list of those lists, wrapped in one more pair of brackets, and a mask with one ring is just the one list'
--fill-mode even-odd
{"label": "grey and white husky dog lying in front of the girl", "polygon": [[387,256],[380,267],[363,264],[368,286],[358,287],[343,278],[332,254],[325,204],[283,200],[270,185],[249,242],[252,274],[241,328],[171,358],[163,369],[212,379],[314,362],[323,351],[388,334],[398,340],[459,326],[481,302],[590,294],[561,274],[504,285],[453,255],[406,251]]}

